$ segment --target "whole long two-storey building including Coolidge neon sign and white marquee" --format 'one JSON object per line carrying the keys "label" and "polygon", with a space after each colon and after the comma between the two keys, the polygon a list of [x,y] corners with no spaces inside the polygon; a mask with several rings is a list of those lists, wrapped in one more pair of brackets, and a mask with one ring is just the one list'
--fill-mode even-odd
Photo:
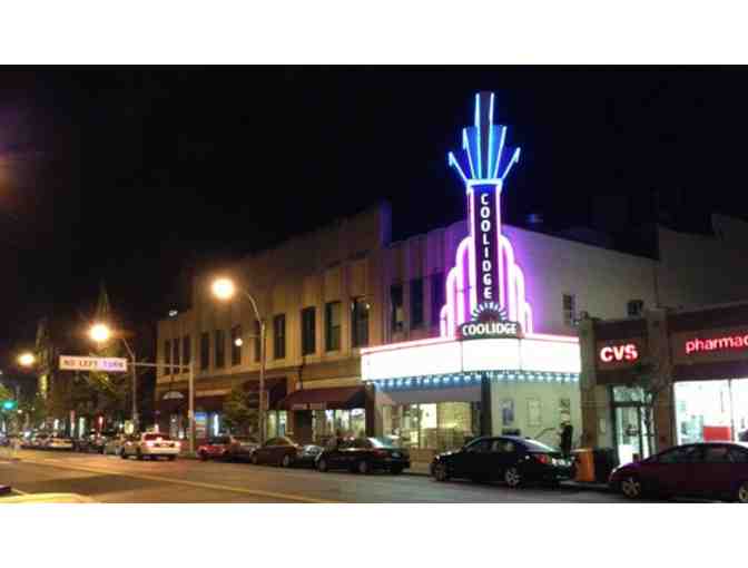
{"label": "whole long two-storey building including Coolidge neon sign and white marquee", "polygon": [[[452,225],[393,242],[382,204],[198,274],[191,307],[158,323],[159,423],[175,433],[186,423],[187,374],[171,362],[195,362],[198,438],[223,429],[232,389],[257,392],[258,324],[245,298],[210,296],[220,275],[257,300],[267,324],[267,435],[394,435],[427,459],[480,434],[555,443],[570,420],[579,444],[580,319],[717,301],[705,281],[735,258],[716,238],[663,227],[653,257],[508,225],[501,202],[520,150],[494,124],[494,102],[475,97],[473,125],[450,154],[465,196]],[[745,242],[745,227],[720,223],[721,239]],[[682,251],[712,265],[691,275]]]}

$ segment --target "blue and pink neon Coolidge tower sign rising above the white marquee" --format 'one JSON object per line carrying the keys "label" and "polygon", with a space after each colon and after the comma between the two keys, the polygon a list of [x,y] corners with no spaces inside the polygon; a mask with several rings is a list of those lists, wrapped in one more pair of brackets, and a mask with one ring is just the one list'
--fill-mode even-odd
{"label": "blue and pink neon Coolidge tower sign rising above the white marquee", "polygon": [[[501,233],[501,190],[520,159],[520,149],[505,145],[508,128],[493,124],[493,105],[492,92],[475,95],[474,124],[462,130],[462,149],[449,154],[450,166],[465,184],[470,234],[457,246],[455,265],[446,276],[446,304],[440,314],[442,336],[460,332],[465,339],[463,324],[479,305],[496,305],[503,311],[503,320],[496,322],[516,323],[514,336],[521,330],[532,333],[524,275],[512,244]],[[478,327],[474,330],[478,333]],[[489,333],[488,327],[484,331]]]}

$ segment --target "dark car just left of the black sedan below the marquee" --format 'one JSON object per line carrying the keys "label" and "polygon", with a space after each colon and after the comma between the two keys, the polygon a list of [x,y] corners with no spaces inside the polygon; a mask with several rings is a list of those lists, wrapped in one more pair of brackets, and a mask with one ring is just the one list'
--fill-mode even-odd
{"label": "dark car just left of the black sedan below the marquee", "polygon": [[401,473],[411,467],[411,459],[407,451],[396,448],[391,440],[357,438],[326,448],[317,458],[316,466],[319,471],[347,469],[358,473],[374,470]]}

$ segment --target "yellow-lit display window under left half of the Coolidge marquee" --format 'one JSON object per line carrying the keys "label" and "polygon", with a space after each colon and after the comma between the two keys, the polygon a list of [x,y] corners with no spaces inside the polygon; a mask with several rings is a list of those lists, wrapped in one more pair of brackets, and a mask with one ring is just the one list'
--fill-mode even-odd
{"label": "yellow-lit display window under left half of the Coolidge marquee", "polygon": [[474,402],[384,405],[382,421],[403,448],[446,451],[479,435],[480,410]]}

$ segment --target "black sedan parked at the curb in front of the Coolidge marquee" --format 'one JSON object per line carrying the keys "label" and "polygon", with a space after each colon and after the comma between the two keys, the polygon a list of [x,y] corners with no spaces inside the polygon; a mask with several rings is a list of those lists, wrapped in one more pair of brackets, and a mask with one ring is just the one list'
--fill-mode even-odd
{"label": "black sedan parked at the curb in front of the Coolidge marquee", "polygon": [[501,480],[511,488],[528,482],[557,484],[571,479],[571,460],[558,449],[530,438],[478,438],[460,450],[436,456],[431,474],[437,481],[450,478]]}

